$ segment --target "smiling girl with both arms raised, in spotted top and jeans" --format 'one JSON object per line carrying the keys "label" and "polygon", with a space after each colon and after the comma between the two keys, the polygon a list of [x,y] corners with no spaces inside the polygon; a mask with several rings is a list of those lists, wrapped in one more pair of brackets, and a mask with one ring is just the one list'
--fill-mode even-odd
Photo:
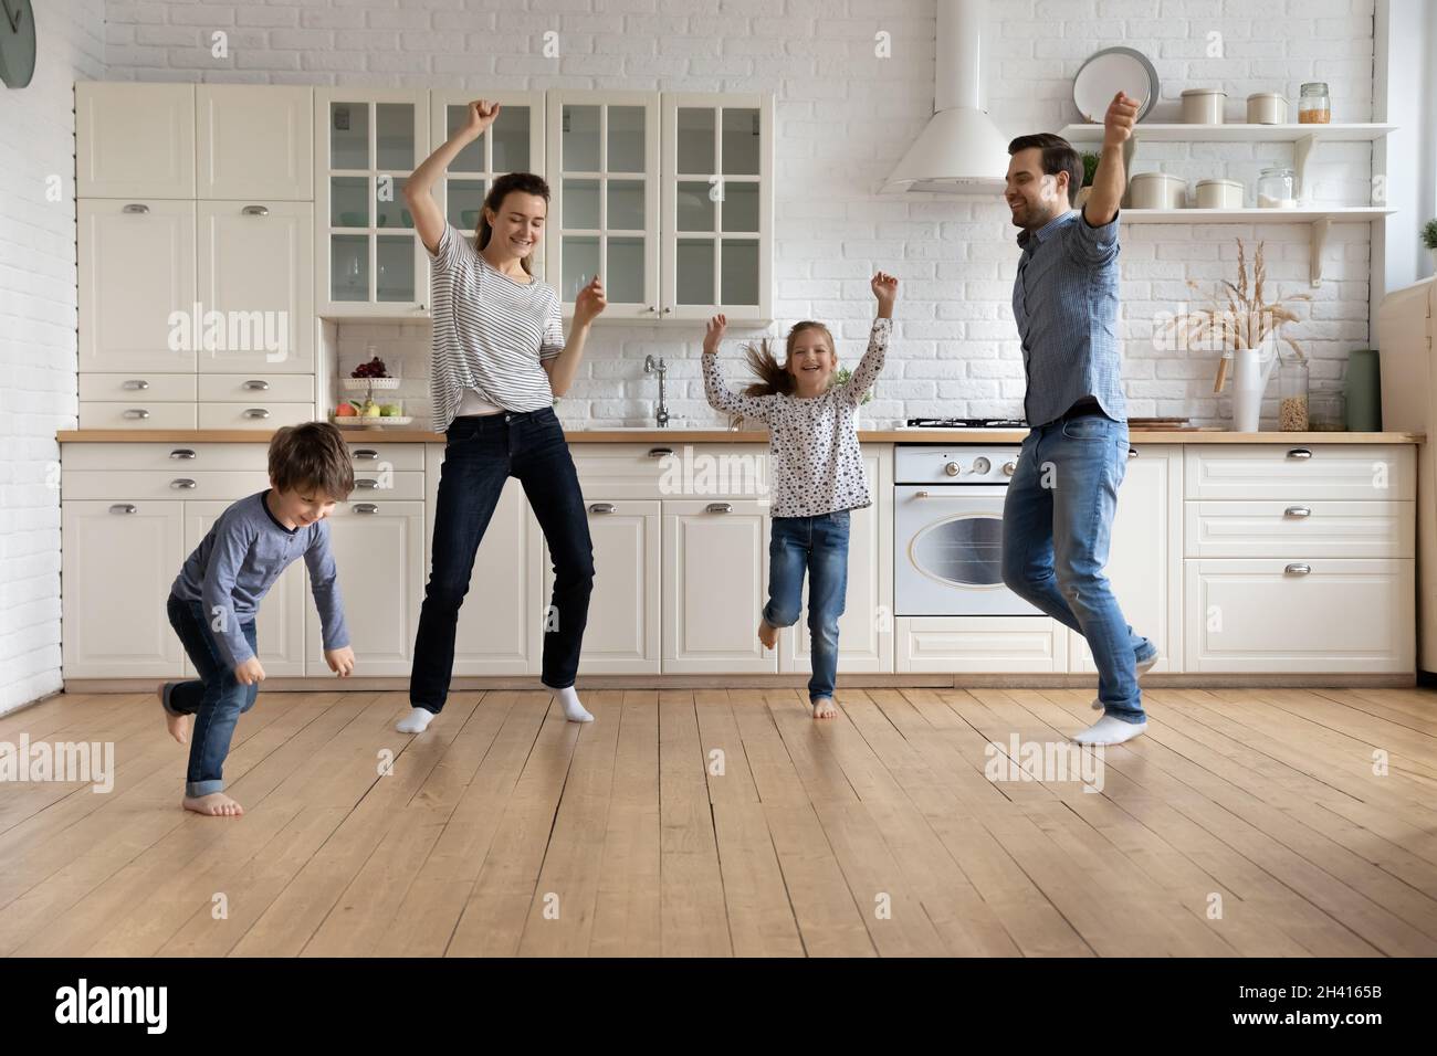
{"label": "smiling girl with both arms raised, in spotted top and jeans", "polygon": [[773,490],[769,539],[769,603],[759,619],[759,641],[772,649],[779,628],[793,626],[809,575],[809,634],[813,677],[809,700],[815,718],[832,718],[838,677],[838,618],[848,588],[848,511],[872,506],[854,415],[884,368],[892,330],[898,280],[878,272],[871,287],[878,318],[868,351],[844,385],[833,385],[838,356],[823,323],[800,322],[789,330],[782,363],[762,346],[749,346],[749,366],[762,381],[743,395],[729,391],[718,366],[718,342],[729,320],[717,315],[704,335],[704,394],[716,411],[741,414],[769,425],[769,474]]}

